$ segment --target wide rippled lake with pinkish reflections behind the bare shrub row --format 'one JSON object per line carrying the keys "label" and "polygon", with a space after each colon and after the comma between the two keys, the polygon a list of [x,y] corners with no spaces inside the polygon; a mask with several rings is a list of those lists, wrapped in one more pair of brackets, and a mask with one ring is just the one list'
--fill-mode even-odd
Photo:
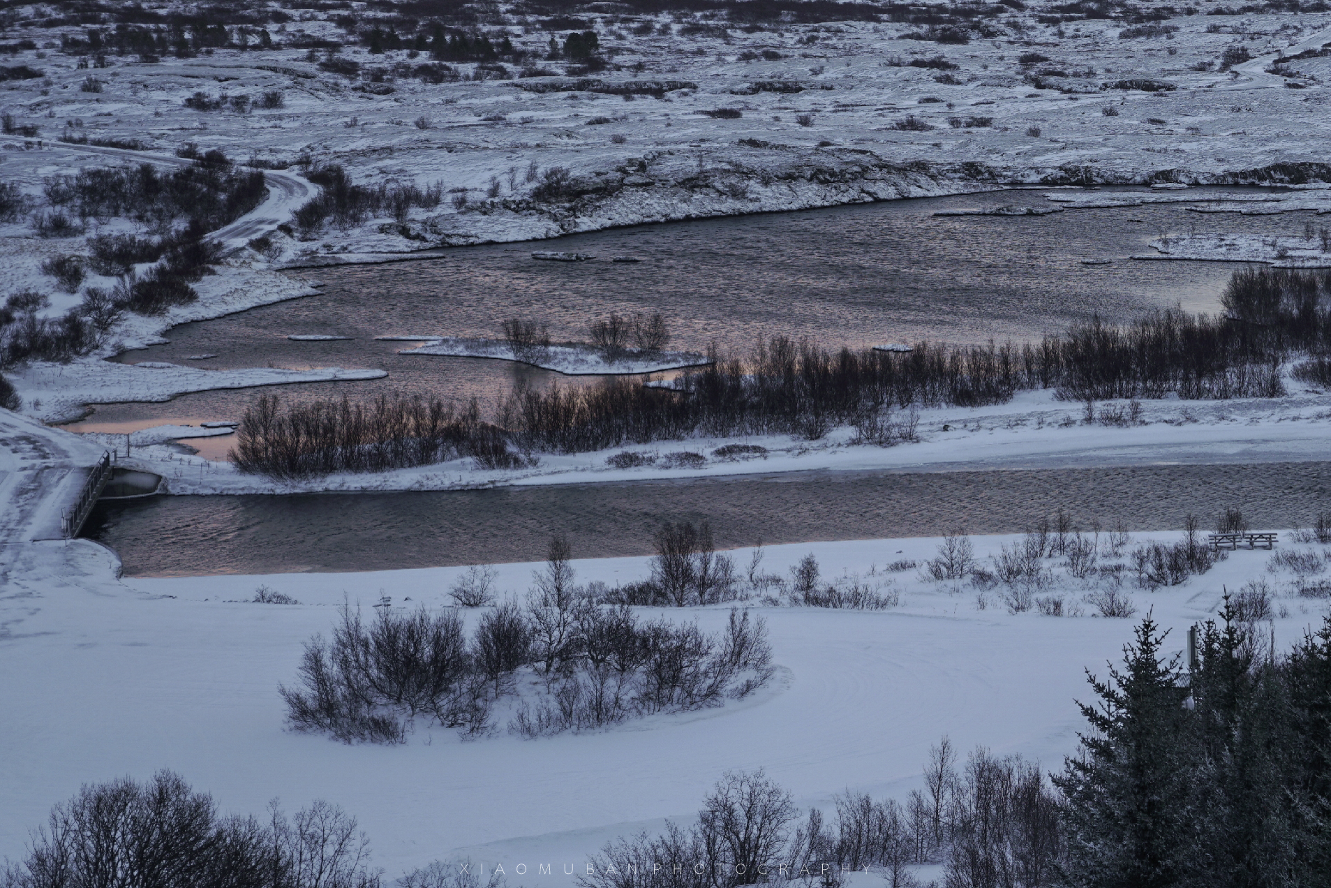
{"label": "wide rippled lake with pinkish reflections behind the bare shrub row", "polygon": [[[1207,189],[1195,189],[1202,197]],[[200,367],[381,367],[386,378],[265,389],[284,398],[373,397],[399,390],[492,403],[515,382],[576,379],[510,362],[402,355],[377,335],[496,335],[506,317],[586,339],[611,312],[662,312],[673,347],[747,351],[760,337],[809,337],[828,346],[921,338],[952,342],[1037,338],[1098,313],[1127,318],[1181,304],[1214,310],[1234,269],[1223,262],[1141,262],[1167,232],[1288,233],[1302,214],[1187,212],[1182,205],[1067,210],[1044,217],[937,217],[942,209],[1053,206],[1044,192],[892,201],[799,213],[640,225],[538,244],[457,248],[422,261],[299,272],[325,282],[311,296],[185,324],[169,343],[126,362]],[[592,253],[543,262],[532,249]],[[640,262],[611,262],[632,256]],[[1087,266],[1082,260],[1113,260]],[[293,342],[290,334],[353,337]],[[216,354],[192,361],[190,355]],[[586,379],[583,381],[586,382]],[[162,422],[236,419],[254,389],[202,391],[164,403],[101,405],[76,430],[128,431]],[[229,441],[201,443],[224,457]]]}

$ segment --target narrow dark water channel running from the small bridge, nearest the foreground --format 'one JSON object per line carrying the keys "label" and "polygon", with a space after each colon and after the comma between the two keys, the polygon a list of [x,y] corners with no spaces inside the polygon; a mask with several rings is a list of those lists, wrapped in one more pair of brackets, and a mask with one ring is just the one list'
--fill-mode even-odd
{"label": "narrow dark water channel running from the small bridge, nearest the foreground", "polygon": [[647,555],[666,521],[707,519],[720,547],[1020,533],[1065,509],[1082,530],[1203,527],[1238,507],[1252,527],[1307,527],[1331,463],[1037,471],[797,473],[708,481],[101,503],[85,535],[136,576],[387,570]]}

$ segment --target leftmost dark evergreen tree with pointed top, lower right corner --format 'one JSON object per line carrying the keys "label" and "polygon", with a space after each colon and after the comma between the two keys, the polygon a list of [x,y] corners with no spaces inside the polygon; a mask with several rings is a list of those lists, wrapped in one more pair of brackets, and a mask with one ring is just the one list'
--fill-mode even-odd
{"label": "leftmost dark evergreen tree with pointed top, lower right corner", "polygon": [[1178,885],[1193,848],[1187,695],[1178,656],[1165,660],[1150,615],[1109,680],[1087,671],[1098,696],[1078,703],[1091,731],[1054,783],[1067,797],[1067,881],[1085,888]]}

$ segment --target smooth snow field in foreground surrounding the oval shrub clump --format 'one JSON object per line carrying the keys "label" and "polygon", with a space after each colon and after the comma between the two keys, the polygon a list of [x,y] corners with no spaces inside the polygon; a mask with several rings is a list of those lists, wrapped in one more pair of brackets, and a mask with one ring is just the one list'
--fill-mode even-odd
{"label": "smooth snow field in foreground surrounding the oval shrub clump", "polygon": [[[1126,564],[1134,547],[1179,537],[1134,535],[1115,558],[1102,534],[1099,564]],[[977,562],[993,570],[990,556],[1018,541],[973,538]],[[302,643],[329,632],[343,600],[366,610],[385,595],[394,608],[447,606],[462,568],[116,580],[114,558],[100,546],[43,543],[25,558],[40,559],[44,572],[19,574],[0,592],[8,676],[0,684],[0,853],[19,853],[28,827],[80,783],[170,767],[225,809],[260,811],[274,796],[289,808],[333,800],[359,819],[390,876],[463,853],[487,867],[503,863],[510,877],[527,864],[531,875],[511,877],[515,884],[556,884],[560,864],[580,865],[606,840],[689,816],[725,770],[765,767],[809,807],[829,805],[847,788],[904,797],[942,735],[962,752],[982,744],[1061,768],[1082,727],[1073,700],[1087,696],[1083,667],[1103,674],[1135,620],[1099,616],[1086,596],[1114,583],[1103,572],[1075,579],[1061,559],[1046,559],[1053,579],[1042,594],[1079,615],[1010,612],[1001,584],[924,579],[940,546],[898,539],[765,550],[759,574],[788,576],[813,554],[825,582],[870,583],[897,594],[898,604],[755,604],[777,675],[747,700],[540,740],[502,724],[469,742],[418,727],[405,744],[385,747],[284,731],[277,684],[294,680]],[[1308,575],[1288,567],[1295,551],[1311,556],[1300,562]],[[751,550],[731,554],[743,574]],[[1214,618],[1222,588],[1264,580],[1271,619],[1255,630],[1284,648],[1327,610],[1326,599],[1308,596],[1322,587],[1324,564],[1323,547],[1282,534],[1272,553],[1231,553],[1155,592],[1137,588],[1127,564],[1119,588],[1137,618],[1150,611],[1173,630],[1167,647],[1181,650],[1187,626]],[[496,586],[524,595],[539,567],[498,566]],[[643,558],[574,567],[579,583],[648,574]],[[249,602],[260,586],[299,603]],[[663,612],[713,631],[728,606]],[[476,611],[467,614],[471,620]],[[542,863],[554,864],[554,877],[535,877]]]}

